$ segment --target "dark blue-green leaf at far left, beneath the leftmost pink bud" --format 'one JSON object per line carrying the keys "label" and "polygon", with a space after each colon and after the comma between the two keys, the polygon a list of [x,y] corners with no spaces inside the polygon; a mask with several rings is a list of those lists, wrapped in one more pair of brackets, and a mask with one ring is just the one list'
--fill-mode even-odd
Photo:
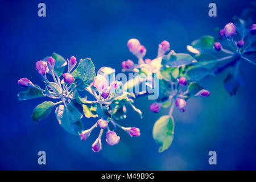
{"label": "dark blue-green leaf at far left, beneath the leftmost pink bud", "polygon": [[[39,88],[38,85],[35,85]],[[38,97],[44,97],[44,94],[41,90],[38,90],[36,88],[30,87],[27,91],[22,91],[18,93],[18,99],[19,101],[29,100],[32,98],[38,98]]]}

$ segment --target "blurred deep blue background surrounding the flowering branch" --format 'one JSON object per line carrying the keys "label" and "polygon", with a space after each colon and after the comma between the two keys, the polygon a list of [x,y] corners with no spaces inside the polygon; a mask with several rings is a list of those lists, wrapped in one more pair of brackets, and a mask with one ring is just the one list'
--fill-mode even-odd
{"label": "blurred deep blue background surrounding the flowering branch", "polygon": [[[46,17],[38,16],[38,3],[46,3]],[[248,0],[216,0],[217,17],[208,16],[212,1],[1,1],[0,2],[0,169],[5,170],[237,170],[256,169],[256,67],[243,63],[246,86],[230,97],[222,81],[227,72],[205,79],[208,98],[189,100],[187,111],[174,111],[175,138],[172,146],[158,153],[152,127],[160,115],[150,113],[152,101],[138,98],[141,120],[131,109],[121,121],[137,126],[141,137],[131,138],[118,130],[121,141],[94,154],[91,144],[97,132],[81,142],[68,134],[52,112],[38,124],[31,119],[34,107],[44,99],[19,102],[23,90],[20,77],[43,86],[36,75],[35,62],[57,52],[65,58],[91,57],[96,69],[113,67],[121,72],[121,62],[135,57],[127,40],[137,38],[147,48],[146,58],[154,58],[158,44],[168,40],[176,52],[201,35],[217,35],[233,15],[249,6]],[[254,19],[255,20],[255,19]],[[83,119],[90,127],[94,119]],[[46,151],[47,165],[38,164],[38,151]],[[217,165],[208,164],[208,152],[217,152]]]}

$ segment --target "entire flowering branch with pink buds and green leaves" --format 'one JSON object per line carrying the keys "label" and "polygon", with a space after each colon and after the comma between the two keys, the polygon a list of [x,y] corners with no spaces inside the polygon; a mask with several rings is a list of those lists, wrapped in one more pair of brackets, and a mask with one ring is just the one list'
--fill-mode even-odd
{"label": "entire flowering branch with pink buds and green leaves", "polygon": [[[162,152],[170,147],[174,139],[172,113],[175,106],[184,112],[190,98],[210,95],[209,90],[200,85],[201,80],[229,68],[228,76],[223,82],[231,96],[245,83],[240,63],[247,61],[256,65],[255,35],[256,24],[238,18],[236,22],[226,24],[217,39],[205,35],[188,45],[187,49],[193,56],[176,53],[171,50],[170,43],[164,40],[158,45],[154,59],[144,59],[147,49],[138,39],[130,39],[127,47],[137,57],[138,63],[128,59],[122,61],[121,67],[123,72],[137,73],[138,81],[133,78],[125,83],[116,80],[115,70],[109,67],[100,68],[96,75],[94,64],[89,58],[77,61],[75,56],[71,56],[66,61],[62,56],[53,53],[35,64],[36,72],[46,87],[42,89],[27,78],[20,78],[18,84],[28,90],[18,93],[18,98],[28,100],[49,97],[60,100],[56,103],[45,101],[36,106],[32,119],[36,122],[46,119],[56,106],[55,115],[61,127],[70,134],[80,136],[81,140],[90,137],[96,128],[100,129],[92,144],[92,151],[99,152],[102,149],[104,131],[109,146],[120,141],[115,130],[117,127],[131,137],[141,135],[137,127],[121,126],[118,121],[126,118],[126,106],[130,106],[142,117],[141,110],[133,105],[133,99],[143,95],[152,96],[152,93],[148,90],[133,92],[133,88],[145,84],[157,92],[152,97],[154,103],[149,106],[153,113],[158,113],[162,107],[170,108],[168,115],[163,115],[155,122],[152,132],[155,142],[160,144],[159,151]],[[226,54],[228,56],[223,56]],[[222,66],[216,67],[218,64]],[[148,84],[148,80],[154,84]],[[84,91],[93,96],[93,100],[82,98],[80,92]],[[97,118],[97,121],[89,129],[84,129],[81,122],[83,117]]]}

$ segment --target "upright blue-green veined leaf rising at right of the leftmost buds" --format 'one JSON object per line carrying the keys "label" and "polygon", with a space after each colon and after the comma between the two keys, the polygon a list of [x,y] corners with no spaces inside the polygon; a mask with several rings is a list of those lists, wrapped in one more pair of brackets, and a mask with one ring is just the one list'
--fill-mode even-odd
{"label": "upright blue-green veined leaf rising at right of the leftmost buds", "polygon": [[75,84],[77,84],[77,90],[82,91],[93,82],[96,75],[94,70],[95,67],[90,58],[80,61],[79,65],[72,73],[75,78]]}

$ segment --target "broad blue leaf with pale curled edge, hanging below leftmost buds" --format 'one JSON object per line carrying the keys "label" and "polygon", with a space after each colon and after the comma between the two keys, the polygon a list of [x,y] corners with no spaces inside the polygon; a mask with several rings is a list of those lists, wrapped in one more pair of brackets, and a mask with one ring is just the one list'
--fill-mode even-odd
{"label": "broad blue leaf with pale curled edge, hanging below leftmost buds", "polygon": [[55,110],[55,115],[57,121],[68,133],[79,135],[82,132],[82,114],[74,106],[70,104],[67,107],[59,105]]}

